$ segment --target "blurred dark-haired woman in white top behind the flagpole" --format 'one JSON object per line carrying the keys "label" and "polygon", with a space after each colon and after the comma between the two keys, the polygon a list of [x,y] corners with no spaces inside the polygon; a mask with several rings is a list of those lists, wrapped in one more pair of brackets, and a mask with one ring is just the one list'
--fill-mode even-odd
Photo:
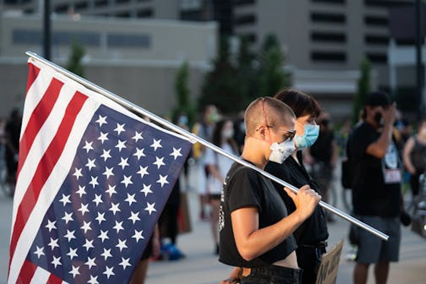
{"label": "blurred dark-haired woman in white top behind the flagpole", "polygon": [[[224,119],[216,123],[216,126],[213,130],[212,142],[214,145],[222,148],[230,154],[237,155],[238,147],[232,138],[233,135],[234,129],[232,121],[229,119]],[[212,210],[211,229],[213,234],[213,241],[215,243],[214,252],[217,255],[219,254],[218,225],[220,195],[222,191],[223,180],[226,177],[226,174],[229,171],[233,161],[207,148],[204,162],[209,173],[207,177],[207,192]]]}

